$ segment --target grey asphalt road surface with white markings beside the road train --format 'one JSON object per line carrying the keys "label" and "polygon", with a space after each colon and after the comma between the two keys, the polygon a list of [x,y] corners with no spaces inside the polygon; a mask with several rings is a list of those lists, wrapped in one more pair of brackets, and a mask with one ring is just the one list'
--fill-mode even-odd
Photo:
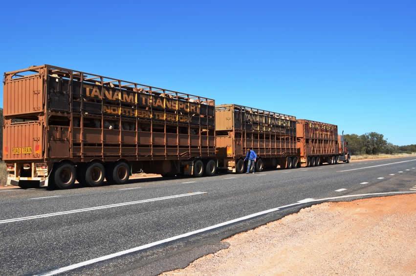
{"label": "grey asphalt road surface with white markings beside the road train", "polygon": [[416,192],[415,167],[415,158],[401,158],[0,190],[0,275],[154,275],[185,267],[226,248],[227,236],[314,203]]}

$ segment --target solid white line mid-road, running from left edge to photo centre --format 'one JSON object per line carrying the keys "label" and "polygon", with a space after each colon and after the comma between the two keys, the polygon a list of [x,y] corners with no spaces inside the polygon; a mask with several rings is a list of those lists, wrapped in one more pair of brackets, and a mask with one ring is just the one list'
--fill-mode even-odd
{"label": "solid white line mid-road, running from left edge to photo centre", "polygon": [[195,193],[187,193],[187,194],[180,194],[180,195],[173,195],[173,196],[164,196],[164,197],[157,197],[157,198],[137,200],[137,201],[129,201],[129,202],[123,202],[123,203],[117,203],[117,204],[110,204],[110,205],[89,207],[89,208],[83,208],[83,209],[62,211],[62,212],[56,212],[56,213],[35,215],[35,216],[29,216],[29,217],[4,219],[4,220],[0,220],[0,224],[10,223],[10,222],[17,222],[17,221],[22,221],[22,220],[30,220],[30,219],[38,219],[38,218],[46,218],[46,217],[74,214],[74,213],[87,212],[87,211],[100,210],[100,209],[107,209],[107,208],[113,208],[113,207],[121,207],[121,206],[127,206],[127,205],[139,204],[139,203],[153,202],[153,201],[172,199],[172,198],[178,198],[178,197],[184,197],[184,196],[200,195],[200,194],[206,194],[206,192],[195,192]]}

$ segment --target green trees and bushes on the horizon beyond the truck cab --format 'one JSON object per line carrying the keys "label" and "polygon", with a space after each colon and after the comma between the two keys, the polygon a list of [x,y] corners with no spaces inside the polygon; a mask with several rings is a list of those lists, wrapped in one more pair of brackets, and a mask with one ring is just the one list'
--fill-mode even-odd
{"label": "green trees and bushes on the horizon beyond the truck cab", "polygon": [[347,134],[345,139],[348,141],[348,149],[351,155],[411,154],[416,152],[416,144],[396,146],[388,142],[384,135],[376,132],[369,132],[363,135]]}

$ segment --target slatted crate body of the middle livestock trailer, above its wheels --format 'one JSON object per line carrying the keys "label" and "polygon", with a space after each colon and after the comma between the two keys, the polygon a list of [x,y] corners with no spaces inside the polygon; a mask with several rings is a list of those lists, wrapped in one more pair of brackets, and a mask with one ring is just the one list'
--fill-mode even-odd
{"label": "slatted crate body of the middle livestock trailer, above its wheels", "polygon": [[[220,105],[216,107],[217,152],[229,153],[234,159],[245,156],[252,148],[260,157],[280,158],[297,154],[296,117],[275,112],[254,109],[241,105]],[[231,120],[226,118],[231,117]],[[232,125],[229,126],[228,122]],[[224,145],[223,137],[231,140]],[[228,148],[227,148],[228,147]],[[230,155],[231,154],[231,155]]]}

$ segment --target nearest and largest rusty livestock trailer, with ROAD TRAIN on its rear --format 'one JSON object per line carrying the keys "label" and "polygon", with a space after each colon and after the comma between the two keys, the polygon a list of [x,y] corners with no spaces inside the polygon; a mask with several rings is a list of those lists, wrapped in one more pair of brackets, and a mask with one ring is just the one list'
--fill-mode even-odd
{"label": "nearest and largest rusty livestock trailer, with ROAD TRAIN on its rear", "polygon": [[139,171],[216,172],[215,102],[51,65],[4,73],[8,181],[126,183]]}

